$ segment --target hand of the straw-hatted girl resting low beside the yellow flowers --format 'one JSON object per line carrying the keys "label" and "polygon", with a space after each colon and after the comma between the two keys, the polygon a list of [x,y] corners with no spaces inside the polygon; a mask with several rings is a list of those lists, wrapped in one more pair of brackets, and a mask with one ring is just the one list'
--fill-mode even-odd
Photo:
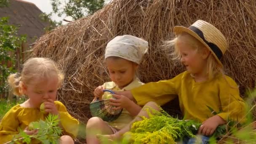
{"label": "hand of the straw-hatted girl resting low beside the yellow flowers", "polygon": [[226,123],[219,115],[214,115],[213,117],[205,120],[199,128],[198,134],[203,136],[210,136],[214,133],[219,125],[224,125]]}

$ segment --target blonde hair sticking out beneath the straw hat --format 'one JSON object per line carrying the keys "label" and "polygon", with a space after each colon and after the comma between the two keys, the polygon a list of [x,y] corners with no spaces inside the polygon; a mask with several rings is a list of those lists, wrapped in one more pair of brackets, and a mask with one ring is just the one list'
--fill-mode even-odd
{"label": "blonde hair sticking out beneath the straw hat", "polygon": [[[203,43],[201,43],[195,37],[189,35],[187,32],[182,32],[180,35],[177,35],[173,40],[166,41],[164,44],[164,46],[168,48],[174,47],[174,51],[171,53],[171,56],[173,56],[173,60],[181,60],[181,53],[177,48],[177,41],[181,37],[184,39],[184,42],[186,42],[192,48],[195,48],[195,51],[197,52],[200,52],[203,50],[203,48],[205,48],[205,45],[203,45]],[[215,77],[217,74],[220,73],[224,75],[224,71],[221,65],[217,62],[217,60],[213,56],[213,53],[211,52],[207,58],[207,73],[209,79]]]}

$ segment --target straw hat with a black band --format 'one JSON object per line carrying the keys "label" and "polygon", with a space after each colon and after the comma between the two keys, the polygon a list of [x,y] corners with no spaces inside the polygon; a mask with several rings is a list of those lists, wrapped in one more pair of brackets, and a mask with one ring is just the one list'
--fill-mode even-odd
{"label": "straw hat with a black band", "polygon": [[223,67],[220,59],[226,52],[228,44],[226,38],[219,31],[219,29],[206,21],[197,20],[188,28],[182,26],[175,26],[173,31],[176,35],[181,34],[181,32],[187,32],[195,37],[197,40],[203,43],[203,45],[205,45],[211,51],[211,53],[213,53],[213,56]]}

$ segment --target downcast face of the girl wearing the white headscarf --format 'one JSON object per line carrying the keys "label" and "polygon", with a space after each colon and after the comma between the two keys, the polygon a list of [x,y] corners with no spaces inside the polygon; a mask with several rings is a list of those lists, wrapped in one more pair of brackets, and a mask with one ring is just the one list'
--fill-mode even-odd
{"label": "downcast face of the girl wearing the white headscarf", "polygon": [[132,61],[115,57],[107,58],[106,64],[110,79],[121,89],[133,81],[138,68],[138,64]]}

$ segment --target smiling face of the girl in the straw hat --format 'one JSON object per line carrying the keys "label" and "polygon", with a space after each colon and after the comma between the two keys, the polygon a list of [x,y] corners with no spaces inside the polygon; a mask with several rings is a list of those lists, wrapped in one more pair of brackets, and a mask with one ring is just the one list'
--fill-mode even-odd
{"label": "smiling face of the girl in the straw hat", "polygon": [[204,75],[207,66],[209,50],[193,48],[185,40],[177,40],[176,46],[181,54],[181,63],[185,65],[187,71],[193,75]]}

